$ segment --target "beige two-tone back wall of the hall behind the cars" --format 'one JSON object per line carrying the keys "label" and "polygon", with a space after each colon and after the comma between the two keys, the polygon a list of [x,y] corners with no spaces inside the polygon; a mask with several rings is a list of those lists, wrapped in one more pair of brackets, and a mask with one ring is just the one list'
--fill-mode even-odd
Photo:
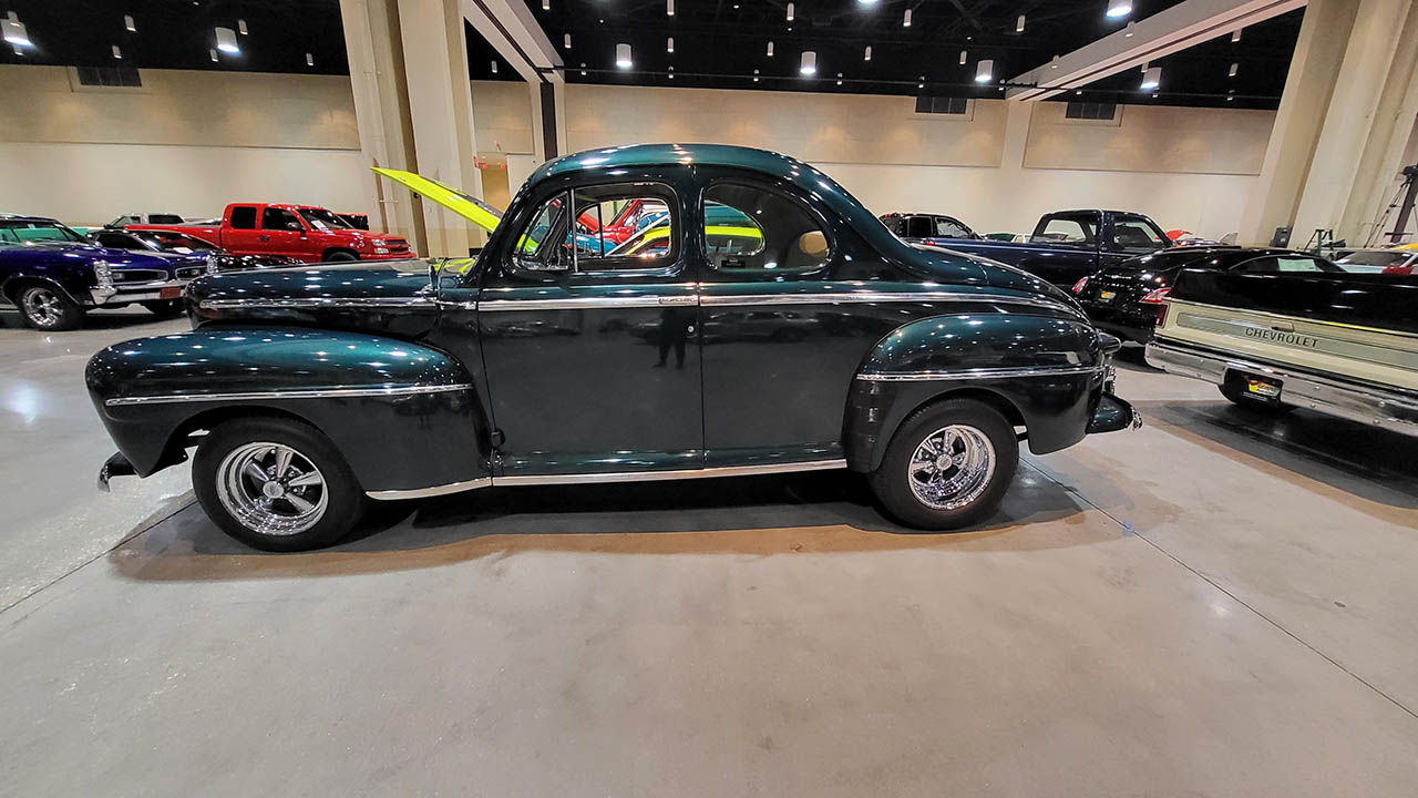
{"label": "beige two-tone back wall of the hall behind the cars", "polygon": [[[135,210],[217,214],[234,199],[364,210],[350,84],[342,77],[145,70],[143,88],[75,89],[61,67],[0,67],[0,209],[75,224]],[[532,95],[471,82],[476,151],[536,166]],[[1235,230],[1273,114],[1126,106],[1116,125],[1032,104],[1005,155],[1008,104],[925,115],[905,97],[570,85],[573,151],[645,141],[776,149],[822,168],[868,207],[934,210],[1022,231],[1048,210],[1127,207],[1164,227]],[[1015,145],[1018,146],[1018,145]],[[386,186],[386,196],[400,196]],[[501,192],[499,192],[501,193]]]}

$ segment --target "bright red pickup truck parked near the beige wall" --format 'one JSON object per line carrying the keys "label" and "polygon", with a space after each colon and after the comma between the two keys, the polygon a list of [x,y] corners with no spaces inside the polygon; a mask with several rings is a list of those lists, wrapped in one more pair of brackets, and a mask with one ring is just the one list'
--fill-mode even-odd
{"label": "bright red pickup truck parked near the beige wall", "polygon": [[220,227],[132,224],[129,230],[176,230],[238,256],[288,256],[305,263],[418,257],[406,239],[356,230],[308,204],[231,203]]}

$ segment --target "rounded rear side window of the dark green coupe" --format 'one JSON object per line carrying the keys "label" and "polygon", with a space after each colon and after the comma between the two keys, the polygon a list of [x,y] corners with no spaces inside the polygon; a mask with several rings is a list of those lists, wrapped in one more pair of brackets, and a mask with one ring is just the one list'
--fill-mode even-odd
{"label": "rounded rear side window of the dark green coupe", "polygon": [[705,190],[705,257],[723,271],[813,271],[827,264],[827,234],[797,200],[744,183]]}

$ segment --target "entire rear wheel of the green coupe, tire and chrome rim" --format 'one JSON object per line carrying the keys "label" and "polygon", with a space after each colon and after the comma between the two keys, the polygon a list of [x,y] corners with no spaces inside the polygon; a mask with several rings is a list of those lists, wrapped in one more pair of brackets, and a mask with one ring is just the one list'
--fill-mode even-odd
{"label": "entire rear wheel of the green coupe, tire and chrome rim", "polygon": [[1008,419],[973,399],[946,399],[902,422],[871,483],[902,524],[954,530],[995,511],[1018,463]]}

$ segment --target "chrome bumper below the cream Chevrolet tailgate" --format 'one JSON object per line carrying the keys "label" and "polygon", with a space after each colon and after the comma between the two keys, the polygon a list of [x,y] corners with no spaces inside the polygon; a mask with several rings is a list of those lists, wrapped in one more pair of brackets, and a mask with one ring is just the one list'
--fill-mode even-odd
{"label": "chrome bumper below the cream Chevrolet tailgate", "polygon": [[1280,382],[1276,400],[1283,405],[1418,436],[1418,395],[1412,392],[1361,385],[1341,376],[1316,376],[1286,366],[1164,342],[1147,345],[1147,362],[1166,372],[1212,385],[1225,385],[1231,372],[1275,379]]}

